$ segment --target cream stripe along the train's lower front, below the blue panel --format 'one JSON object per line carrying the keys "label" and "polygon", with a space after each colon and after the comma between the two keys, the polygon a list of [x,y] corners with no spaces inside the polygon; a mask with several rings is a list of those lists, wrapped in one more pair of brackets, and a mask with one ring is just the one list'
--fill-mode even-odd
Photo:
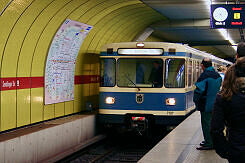
{"label": "cream stripe along the train's lower front, below the blue panel", "polygon": [[185,116],[192,111],[195,106],[192,106],[184,111],[152,111],[152,110],[113,110],[113,109],[99,109],[100,114],[153,114],[158,116]]}

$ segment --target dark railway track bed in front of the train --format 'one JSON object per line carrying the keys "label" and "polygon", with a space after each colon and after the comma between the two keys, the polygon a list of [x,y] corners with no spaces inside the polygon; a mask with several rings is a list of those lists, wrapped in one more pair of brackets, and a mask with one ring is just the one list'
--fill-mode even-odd
{"label": "dark railway track bed in front of the train", "polygon": [[152,149],[168,131],[155,132],[151,138],[135,133],[113,133],[58,163],[135,163]]}

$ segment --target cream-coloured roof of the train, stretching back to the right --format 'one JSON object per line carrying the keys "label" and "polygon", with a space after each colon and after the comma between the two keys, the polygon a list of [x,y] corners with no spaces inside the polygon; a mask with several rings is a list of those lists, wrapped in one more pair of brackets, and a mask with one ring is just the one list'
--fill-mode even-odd
{"label": "cream-coloured roof of the train, stretching back to the right", "polygon": [[[137,48],[136,44],[139,42],[120,42],[120,43],[111,43],[104,45],[101,49],[102,52],[106,52],[108,48],[113,48],[114,52],[117,52],[119,48]],[[222,62],[226,64],[233,64],[227,60],[216,57],[210,53],[203,52],[188,46],[187,44],[182,43],[169,43],[169,42],[140,42],[144,43],[144,48],[163,48],[164,51],[168,51],[169,49],[175,49],[176,52],[187,52],[192,53],[202,58],[208,57],[216,62]]]}

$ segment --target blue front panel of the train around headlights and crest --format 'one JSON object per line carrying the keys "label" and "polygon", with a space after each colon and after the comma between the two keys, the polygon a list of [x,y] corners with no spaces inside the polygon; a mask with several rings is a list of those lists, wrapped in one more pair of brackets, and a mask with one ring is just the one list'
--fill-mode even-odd
{"label": "blue front panel of the train around headlights and crest", "polygon": [[[143,102],[136,102],[136,95],[143,94]],[[186,93],[134,93],[134,92],[101,92],[100,109],[115,110],[155,110],[155,111],[179,111],[186,107]],[[114,97],[114,104],[106,104],[106,97]],[[175,98],[176,105],[166,105],[166,98]]]}

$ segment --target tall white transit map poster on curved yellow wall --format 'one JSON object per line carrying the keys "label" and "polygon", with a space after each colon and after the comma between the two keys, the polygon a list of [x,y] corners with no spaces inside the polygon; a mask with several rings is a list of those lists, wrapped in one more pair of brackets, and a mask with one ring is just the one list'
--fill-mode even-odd
{"label": "tall white transit map poster on curved yellow wall", "polygon": [[74,100],[75,63],[92,26],[66,19],[50,45],[45,69],[45,104]]}

